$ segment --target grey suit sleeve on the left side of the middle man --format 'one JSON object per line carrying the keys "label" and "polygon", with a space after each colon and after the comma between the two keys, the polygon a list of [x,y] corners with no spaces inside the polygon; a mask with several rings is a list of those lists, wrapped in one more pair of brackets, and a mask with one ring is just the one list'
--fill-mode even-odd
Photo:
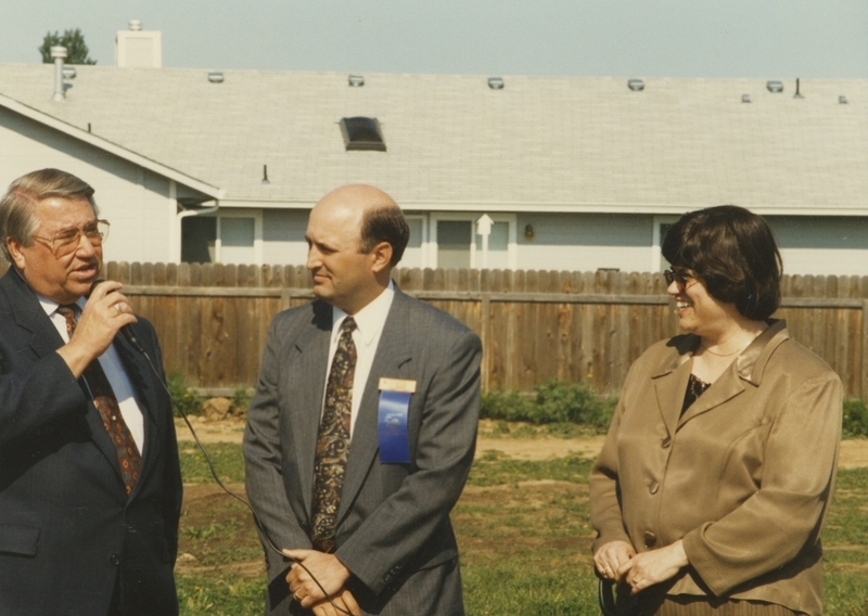
{"label": "grey suit sleeve on the left side of the middle man", "polygon": [[279,548],[311,548],[307,532],[293,514],[283,483],[278,406],[283,338],[279,321],[276,320],[268,332],[259,382],[247,410],[243,444],[247,498],[261,525],[258,530],[266,552],[269,579],[282,576],[289,563],[270,549],[269,540]]}

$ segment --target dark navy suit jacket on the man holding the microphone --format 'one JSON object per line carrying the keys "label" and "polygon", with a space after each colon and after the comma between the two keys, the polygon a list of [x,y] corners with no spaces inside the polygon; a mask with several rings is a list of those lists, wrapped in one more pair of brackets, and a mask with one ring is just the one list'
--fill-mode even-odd
{"label": "dark navy suit jacket on the man holding the microphone", "polygon": [[0,279],[0,616],[99,616],[116,581],[124,614],[177,614],[173,566],[181,478],[156,335],[153,359],[117,336],[144,415],[144,455],[127,499],[99,411],[63,359],[61,336],[12,269]]}

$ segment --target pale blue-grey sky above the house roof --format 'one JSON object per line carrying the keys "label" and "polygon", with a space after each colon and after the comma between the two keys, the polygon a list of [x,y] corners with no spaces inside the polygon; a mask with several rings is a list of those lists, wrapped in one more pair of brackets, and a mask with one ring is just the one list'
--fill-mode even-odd
{"label": "pale blue-grey sky above the house roof", "polygon": [[868,78],[868,0],[0,0],[0,62],[79,27],[111,66],[131,18],[167,67]]}

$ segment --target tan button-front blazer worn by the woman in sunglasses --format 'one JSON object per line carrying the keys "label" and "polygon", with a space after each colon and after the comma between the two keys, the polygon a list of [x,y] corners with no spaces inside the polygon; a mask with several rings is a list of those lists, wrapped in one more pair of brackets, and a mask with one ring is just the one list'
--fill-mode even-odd
{"label": "tan button-front blazer worn by the woman in sunglasses", "polygon": [[630,368],[590,475],[595,552],[684,539],[669,594],[725,595],[822,613],[822,548],[842,388],[771,321],[679,418],[699,337],[662,341]]}

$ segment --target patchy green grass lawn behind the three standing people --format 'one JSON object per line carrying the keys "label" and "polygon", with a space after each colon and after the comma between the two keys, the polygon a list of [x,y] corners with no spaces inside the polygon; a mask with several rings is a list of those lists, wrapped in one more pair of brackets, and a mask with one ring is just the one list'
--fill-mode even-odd
{"label": "patchy green grass lawn behind the three standing people", "polygon": [[[243,491],[241,448],[208,449],[218,474]],[[213,485],[204,458],[186,442],[181,463],[188,485],[180,552],[194,559],[182,559],[177,569],[181,614],[258,616],[264,565],[250,512]],[[488,453],[476,461],[452,512],[469,615],[599,614],[588,523],[590,464],[575,455],[524,461]],[[865,614],[867,516],[868,469],[840,471],[824,532],[829,616]]]}

